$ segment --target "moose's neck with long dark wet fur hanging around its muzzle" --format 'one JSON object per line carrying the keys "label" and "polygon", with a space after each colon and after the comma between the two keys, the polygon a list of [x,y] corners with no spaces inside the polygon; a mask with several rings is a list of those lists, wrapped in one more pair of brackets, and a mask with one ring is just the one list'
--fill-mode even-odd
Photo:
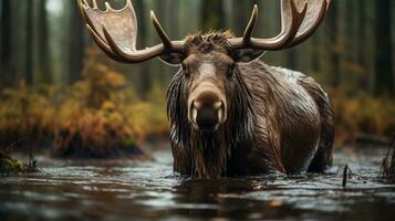
{"label": "moose's neck with long dark wet fur hanging around its muzzle", "polygon": [[186,80],[178,72],[167,92],[167,112],[170,119],[170,139],[176,148],[191,154],[193,175],[217,178],[226,175],[227,162],[235,148],[252,140],[254,114],[251,95],[238,72],[226,90],[229,101],[228,119],[214,133],[195,129],[187,118]]}

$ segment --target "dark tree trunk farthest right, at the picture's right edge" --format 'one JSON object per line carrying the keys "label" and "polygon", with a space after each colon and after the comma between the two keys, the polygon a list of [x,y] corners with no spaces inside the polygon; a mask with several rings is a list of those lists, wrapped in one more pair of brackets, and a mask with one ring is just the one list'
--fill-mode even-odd
{"label": "dark tree trunk farthest right, at the picture's right edge", "polygon": [[394,95],[391,40],[391,0],[376,1],[375,95]]}

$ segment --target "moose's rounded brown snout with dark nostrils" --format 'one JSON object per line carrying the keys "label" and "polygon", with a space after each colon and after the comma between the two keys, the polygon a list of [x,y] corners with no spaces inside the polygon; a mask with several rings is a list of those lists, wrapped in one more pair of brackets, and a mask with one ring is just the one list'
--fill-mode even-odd
{"label": "moose's rounded brown snout with dark nostrils", "polygon": [[190,102],[190,120],[202,131],[215,131],[226,120],[224,99],[212,91],[199,93]]}

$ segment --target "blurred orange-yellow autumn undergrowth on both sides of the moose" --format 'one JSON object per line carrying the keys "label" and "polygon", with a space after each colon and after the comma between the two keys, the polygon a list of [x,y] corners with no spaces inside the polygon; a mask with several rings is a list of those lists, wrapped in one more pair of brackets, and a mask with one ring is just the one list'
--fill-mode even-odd
{"label": "blurred orange-yellow autumn undergrowth on both sides of the moose", "polygon": [[[0,90],[1,146],[25,139],[25,146],[58,157],[119,158],[143,155],[147,137],[168,136],[166,88],[153,84],[143,99],[123,74],[102,62],[103,55],[87,52],[82,78],[73,85],[33,88],[22,81],[15,88]],[[326,91],[335,113],[337,147],[360,133],[395,131],[393,98],[355,93],[346,85]]]}

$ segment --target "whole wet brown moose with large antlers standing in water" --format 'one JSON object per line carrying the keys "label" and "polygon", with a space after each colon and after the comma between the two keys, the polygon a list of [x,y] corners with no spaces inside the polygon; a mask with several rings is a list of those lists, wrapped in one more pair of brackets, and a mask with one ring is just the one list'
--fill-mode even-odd
{"label": "whole wet brown moose with large antlers standing in water", "polygon": [[[79,0],[95,43],[113,60],[135,64],[159,57],[179,66],[167,92],[174,170],[186,177],[322,172],[332,165],[333,110],[311,77],[269,66],[267,51],[308,40],[331,0],[281,0],[281,32],[253,38],[254,6],[241,38],[196,33],[171,41],[150,12],[160,44],[136,49],[137,19],[131,0],[115,10]],[[247,23],[247,22],[246,22]]]}

